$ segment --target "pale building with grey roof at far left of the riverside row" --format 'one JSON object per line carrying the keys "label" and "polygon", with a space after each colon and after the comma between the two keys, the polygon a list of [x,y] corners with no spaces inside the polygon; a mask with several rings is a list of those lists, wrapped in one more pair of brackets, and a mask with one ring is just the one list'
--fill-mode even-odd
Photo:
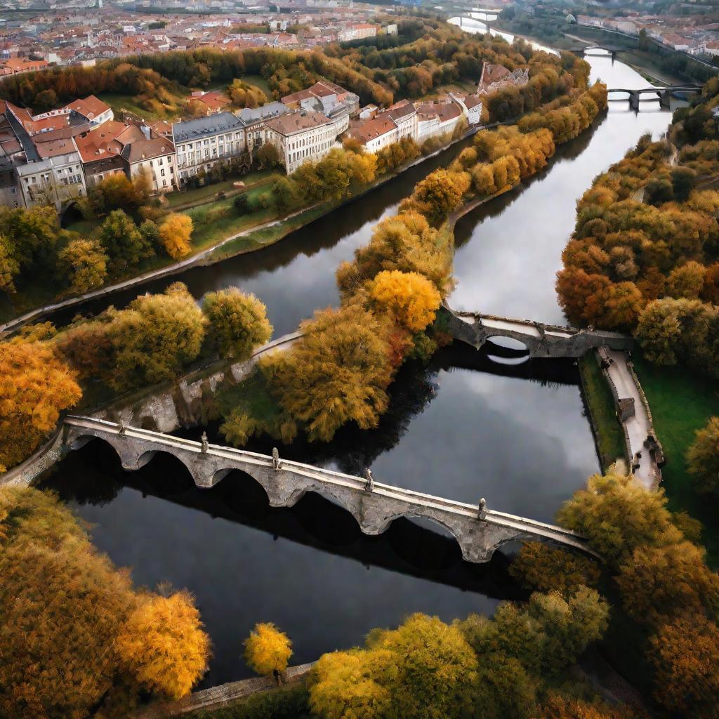
{"label": "pale building with grey roof at far left of the riverside row", "polygon": [[68,201],[87,193],[78,152],[20,165],[17,175],[26,207],[52,203],[59,212]]}

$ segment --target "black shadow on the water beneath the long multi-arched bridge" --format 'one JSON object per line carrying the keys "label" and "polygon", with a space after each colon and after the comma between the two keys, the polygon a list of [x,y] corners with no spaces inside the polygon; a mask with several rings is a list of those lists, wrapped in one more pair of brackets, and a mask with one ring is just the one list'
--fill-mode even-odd
{"label": "black shadow on the water beneath the long multi-arched bridge", "polygon": [[91,441],[63,461],[62,481],[50,477],[42,488],[78,505],[111,503],[129,488],[143,498],[160,498],[365,566],[495,599],[523,596],[508,577],[508,557],[501,551],[487,564],[469,564],[452,536],[405,518],[378,536],[367,536],[347,510],[316,493],[307,493],[292,508],[273,508],[261,485],[244,472],[231,472],[211,490],[198,489],[184,465],[162,452],[141,470],[126,472],[111,446]]}

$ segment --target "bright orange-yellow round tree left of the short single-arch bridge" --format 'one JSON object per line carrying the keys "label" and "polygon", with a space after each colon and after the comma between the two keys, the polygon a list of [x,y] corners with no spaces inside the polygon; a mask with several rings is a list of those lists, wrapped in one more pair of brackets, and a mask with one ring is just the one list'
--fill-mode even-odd
{"label": "bright orange-yellow round tree left of the short single-arch bridge", "polygon": [[381,272],[372,281],[370,297],[380,311],[411,332],[434,321],[441,296],[434,285],[416,272]]}

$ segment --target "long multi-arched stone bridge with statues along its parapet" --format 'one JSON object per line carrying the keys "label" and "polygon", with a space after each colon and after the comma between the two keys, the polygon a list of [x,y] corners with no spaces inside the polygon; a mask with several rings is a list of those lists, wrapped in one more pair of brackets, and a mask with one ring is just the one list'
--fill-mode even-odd
{"label": "long multi-arched stone bridge with statues along its parapet", "polygon": [[273,507],[291,507],[308,492],[324,495],[352,514],[365,534],[380,534],[400,517],[429,519],[454,536],[467,562],[488,562],[503,544],[527,540],[552,541],[597,557],[585,537],[568,529],[487,509],[482,500],[466,504],[375,482],[369,472],[366,478],[355,477],[91,417],[66,417],[63,432],[66,450],[96,438],[106,441],[125,470],[138,470],[157,452],[172,454],[198,487],[213,487],[240,470],[262,486]]}

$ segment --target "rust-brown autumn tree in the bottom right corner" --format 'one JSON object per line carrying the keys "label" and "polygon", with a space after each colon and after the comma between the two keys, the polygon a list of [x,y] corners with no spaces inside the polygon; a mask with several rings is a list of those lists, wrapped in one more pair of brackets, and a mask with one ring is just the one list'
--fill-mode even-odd
{"label": "rust-brown autumn tree in the bottom right corner", "polygon": [[685,716],[719,717],[719,628],[706,618],[679,617],[651,639],[654,699]]}

